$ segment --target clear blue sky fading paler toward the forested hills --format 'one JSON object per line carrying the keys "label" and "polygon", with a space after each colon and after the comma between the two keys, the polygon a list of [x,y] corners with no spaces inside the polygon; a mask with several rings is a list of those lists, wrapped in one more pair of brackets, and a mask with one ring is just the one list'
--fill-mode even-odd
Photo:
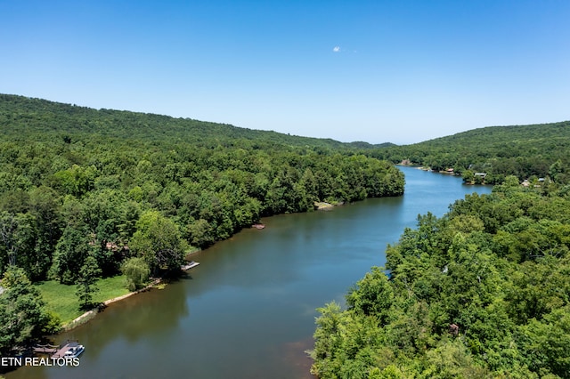
{"label": "clear blue sky fading paler toward the forested hills", "polygon": [[339,141],[570,119],[570,1],[0,0],[0,93]]}

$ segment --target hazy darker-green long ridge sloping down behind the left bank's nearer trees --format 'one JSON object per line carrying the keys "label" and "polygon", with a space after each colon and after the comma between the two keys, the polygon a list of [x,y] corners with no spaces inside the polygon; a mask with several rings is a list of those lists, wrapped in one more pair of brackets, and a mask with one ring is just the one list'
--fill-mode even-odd
{"label": "hazy darker-green long ridge sloping down behind the left bank's nearer trees", "polygon": [[[260,140],[290,146],[318,146],[330,149],[374,149],[391,143],[371,145],[368,142],[340,142],[332,139],[302,137],[273,131],[254,130],[234,125],[175,118],[127,110],[91,109],[55,101],[0,94],[0,127],[4,134],[21,134],[11,130],[14,121],[24,121],[33,132],[98,133],[106,137],[128,137],[153,140],[167,134],[171,138],[206,141],[235,139]],[[21,125],[20,122],[17,123]],[[133,132],[136,135],[133,135]]]}

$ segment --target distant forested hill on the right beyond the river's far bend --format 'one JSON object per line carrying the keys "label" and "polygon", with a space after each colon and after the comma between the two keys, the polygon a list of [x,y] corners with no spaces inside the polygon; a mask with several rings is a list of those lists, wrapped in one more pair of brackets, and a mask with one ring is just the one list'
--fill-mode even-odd
{"label": "distant forested hill on the right beyond the river's far bend", "polygon": [[485,182],[501,183],[550,177],[570,181],[570,121],[517,126],[490,126],[407,146],[378,149],[376,157],[455,173],[486,173]]}

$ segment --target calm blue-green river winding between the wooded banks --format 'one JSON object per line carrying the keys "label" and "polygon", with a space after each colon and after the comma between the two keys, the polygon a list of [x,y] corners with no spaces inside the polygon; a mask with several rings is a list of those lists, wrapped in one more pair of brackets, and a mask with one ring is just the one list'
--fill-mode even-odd
{"label": "calm blue-green river winding between the wooded banks", "polygon": [[23,367],[15,378],[311,378],[316,308],[347,289],[418,214],[443,215],[465,194],[444,174],[409,167],[402,198],[267,218],[194,256],[199,267],[163,290],[112,304],[65,335],[85,345],[79,367]]}

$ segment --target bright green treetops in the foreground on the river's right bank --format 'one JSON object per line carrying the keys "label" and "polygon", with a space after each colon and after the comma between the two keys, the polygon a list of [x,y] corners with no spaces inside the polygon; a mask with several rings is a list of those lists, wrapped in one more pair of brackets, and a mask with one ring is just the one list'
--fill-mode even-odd
{"label": "bright green treetops in the foreground on the river's right bank", "polygon": [[373,268],[322,308],[320,378],[555,378],[570,373],[568,188],[468,195],[420,216]]}

